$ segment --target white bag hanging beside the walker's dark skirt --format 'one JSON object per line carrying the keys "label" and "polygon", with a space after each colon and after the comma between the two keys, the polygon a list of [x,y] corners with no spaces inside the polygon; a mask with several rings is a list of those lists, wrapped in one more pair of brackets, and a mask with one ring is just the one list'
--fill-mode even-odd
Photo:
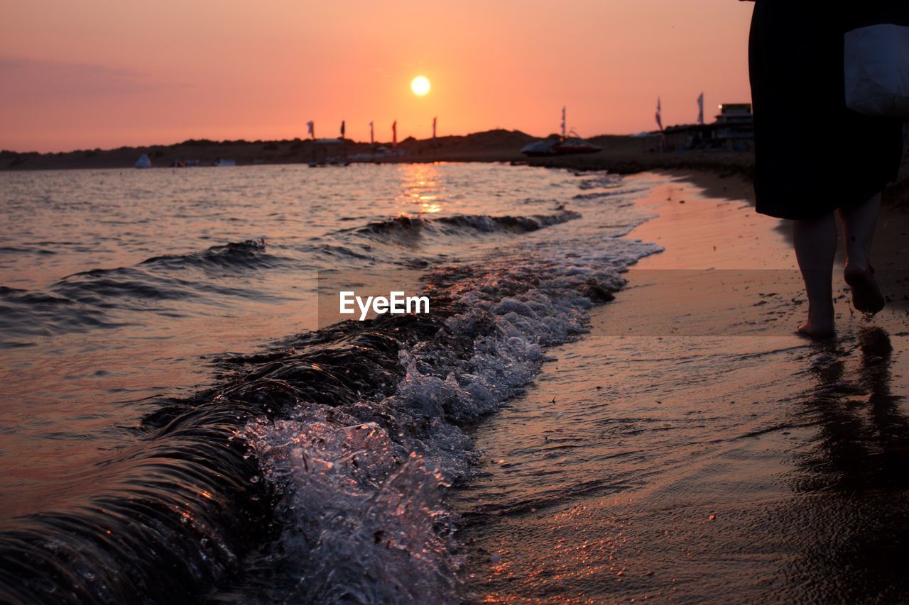
{"label": "white bag hanging beside the walker's dark skirt", "polygon": [[909,120],[909,27],[869,25],[845,35],[846,106]]}

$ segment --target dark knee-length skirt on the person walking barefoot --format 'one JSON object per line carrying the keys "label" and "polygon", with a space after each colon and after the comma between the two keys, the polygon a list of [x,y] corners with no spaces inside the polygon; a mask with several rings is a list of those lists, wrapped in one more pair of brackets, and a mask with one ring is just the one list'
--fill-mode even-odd
{"label": "dark knee-length skirt on the person walking barefoot", "polygon": [[863,203],[896,178],[903,124],[845,106],[843,36],[867,20],[839,13],[836,3],[754,4],[748,61],[757,212],[816,218]]}

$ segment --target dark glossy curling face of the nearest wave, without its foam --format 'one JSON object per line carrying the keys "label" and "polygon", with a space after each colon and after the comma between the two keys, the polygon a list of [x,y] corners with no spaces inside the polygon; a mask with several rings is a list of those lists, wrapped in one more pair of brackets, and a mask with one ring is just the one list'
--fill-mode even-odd
{"label": "dark glossy curling face of the nearest wave, without its foam", "polygon": [[277,353],[215,389],[166,402],[144,419],[135,447],[61,485],[45,511],[0,525],[0,601],[200,598],[274,538],[275,495],[237,434],[300,402],[350,403],[393,388],[397,338],[433,324],[395,317],[369,329],[335,326],[299,339],[303,353]]}

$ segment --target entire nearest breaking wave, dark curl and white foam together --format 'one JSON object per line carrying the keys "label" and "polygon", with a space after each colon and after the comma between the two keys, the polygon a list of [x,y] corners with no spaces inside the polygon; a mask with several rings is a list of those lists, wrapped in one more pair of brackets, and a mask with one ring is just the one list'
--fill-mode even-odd
{"label": "entire nearest breaking wave, dark curl and white foam together", "polygon": [[584,332],[629,258],[440,268],[432,314],[225,360],[223,384],[148,416],[87,492],[0,528],[0,598],[174,600],[214,584],[268,585],[278,601],[458,600],[440,497],[473,472],[464,427],[532,381],[546,347]]}

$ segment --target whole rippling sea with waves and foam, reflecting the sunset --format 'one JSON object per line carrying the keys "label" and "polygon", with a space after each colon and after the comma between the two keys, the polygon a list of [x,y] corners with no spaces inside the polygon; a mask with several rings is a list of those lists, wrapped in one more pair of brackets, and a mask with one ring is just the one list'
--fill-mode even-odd
{"label": "whole rippling sea with waves and foam, reflecting the sunset", "polygon": [[[659,252],[668,178],[0,174],[0,600],[462,600],[469,433]],[[431,311],[320,322],[366,273]]]}

